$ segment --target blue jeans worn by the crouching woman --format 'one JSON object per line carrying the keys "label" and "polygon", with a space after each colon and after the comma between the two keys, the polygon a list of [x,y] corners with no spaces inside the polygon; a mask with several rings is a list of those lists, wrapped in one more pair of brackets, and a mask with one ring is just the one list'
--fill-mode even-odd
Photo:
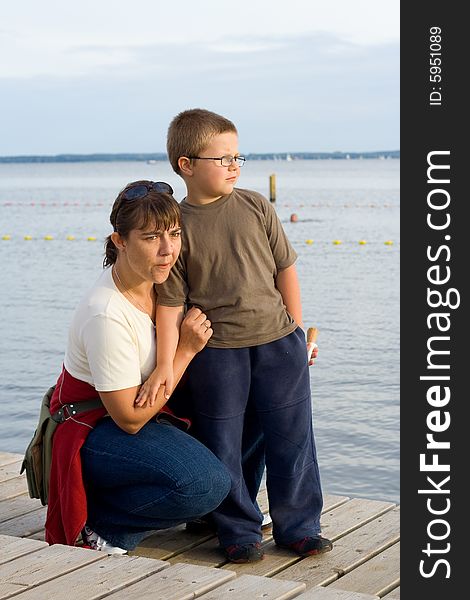
{"label": "blue jeans worn by the crouching woman", "polygon": [[88,525],[113,546],[135,548],[152,530],[214,510],[230,490],[223,464],[173,425],[135,435],[105,417],[81,450]]}

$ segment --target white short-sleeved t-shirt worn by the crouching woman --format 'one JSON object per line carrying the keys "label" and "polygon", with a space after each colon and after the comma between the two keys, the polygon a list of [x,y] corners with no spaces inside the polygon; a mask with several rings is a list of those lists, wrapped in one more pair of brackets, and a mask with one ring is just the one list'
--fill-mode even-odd
{"label": "white short-sleeved t-shirt worn by the crouching woman", "polygon": [[121,294],[111,268],[105,269],[75,311],[65,368],[97,391],[110,392],[143,383],[155,361],[152,320]]}

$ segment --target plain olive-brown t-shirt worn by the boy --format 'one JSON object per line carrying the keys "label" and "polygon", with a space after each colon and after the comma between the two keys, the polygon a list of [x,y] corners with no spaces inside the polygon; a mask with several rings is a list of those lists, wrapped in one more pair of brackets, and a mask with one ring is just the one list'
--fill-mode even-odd
{"label": "plain olive-brown t-shirt worn by the boy", "polygon": [[297,254],[266,198],[236,188],[211,204],[180,206],[181,253],[156,286],[158,303],[201,308],[214,330],[212,348],[257,346],[294,331],[275,277]]}

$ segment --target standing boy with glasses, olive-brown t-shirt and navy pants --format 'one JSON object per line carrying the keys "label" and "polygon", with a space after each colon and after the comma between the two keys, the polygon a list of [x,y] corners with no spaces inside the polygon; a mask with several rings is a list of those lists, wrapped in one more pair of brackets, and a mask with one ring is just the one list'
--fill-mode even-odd
{"label": "standing boy with glasses, olive-brown t-shirt and navy pants", "polygon": [[[263,557],[261,516],[241,466],[249,406],[264,434],[276,544],[300,556],[331,550],[320,535],[323,500],[297,255],[272,205],[235,188],[245,159],[231,121],[207,110],[183,111],[170,124],[167,150],[187,196],[180,205],[182,251],[168,281],[157,286],[157,355],[174,352],[185,304],[204,310],[212,337],[189,366],[188,386],[195,435],[232,478],[229,496],[212,513],[220,544],[232,562]],[[172,389],[170,362],[157,363],[141,402],[151,386]]]}

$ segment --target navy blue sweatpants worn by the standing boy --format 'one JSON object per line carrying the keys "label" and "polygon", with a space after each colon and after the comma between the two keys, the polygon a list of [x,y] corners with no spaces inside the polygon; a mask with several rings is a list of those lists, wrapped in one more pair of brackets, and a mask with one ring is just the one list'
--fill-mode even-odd
{"label": "navy blue sweatpants worn by the standing boy", "polygon": [[258,542],[261,518],[241,464],[245,411],[264,434],[269,512],[276,542],[320,532],[323,506],[312,427],[305,335],[249,348],[204,348],[188,368],[194,435],[228,468],[232,487],[212,513],[220,544]]}

